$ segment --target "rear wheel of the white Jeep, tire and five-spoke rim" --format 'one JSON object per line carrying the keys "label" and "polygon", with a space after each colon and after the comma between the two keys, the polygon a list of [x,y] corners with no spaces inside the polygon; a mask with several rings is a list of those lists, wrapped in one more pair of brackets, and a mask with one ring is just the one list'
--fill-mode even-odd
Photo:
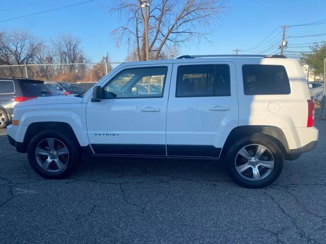
{"label": "rear wheel of the white Jeep, tire and five-spoke rim", "polygon": [[225,161],[230,177],[246,188],[263,188],[272,184],[280,176],[283,162],[279,145],[261,134],[254,134],[234,143]]}

